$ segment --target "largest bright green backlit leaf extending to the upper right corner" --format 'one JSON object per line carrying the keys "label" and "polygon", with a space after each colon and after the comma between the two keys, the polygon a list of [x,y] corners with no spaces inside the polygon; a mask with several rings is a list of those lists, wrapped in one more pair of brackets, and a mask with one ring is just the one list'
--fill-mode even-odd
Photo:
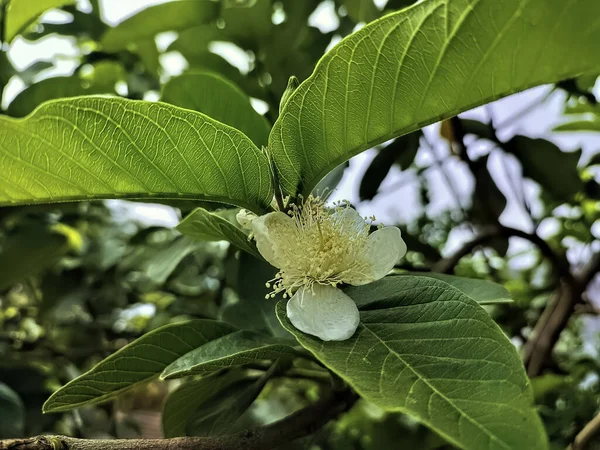
{"label": "largest bright green backlit leaf extending to the upper right corner", "polygon": [[275,123],[286,193],[309,193],[351,156],[600,60],[596,0],[426,0],[347,37]]}

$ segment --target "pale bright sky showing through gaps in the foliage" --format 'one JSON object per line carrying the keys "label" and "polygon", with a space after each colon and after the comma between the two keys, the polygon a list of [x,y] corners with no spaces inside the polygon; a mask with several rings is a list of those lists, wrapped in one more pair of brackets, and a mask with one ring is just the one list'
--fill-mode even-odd
{"label": "pale bright sky showing through gaps in the foliage", "polygon": [[[89,7],[88,0],[79,1],[82,7]],[[158,3],[164,3],[164,0],[101,0],[103,19],[115,25],[137,11]],[[376,0],[376,3],[381,6],[385,3],[385,0]],[[323,31],[334,29],[337,26],[335,23],[337,18],[332,14],[333,8],[331,0],[324,1],[311,17],[311,24]],[[65,21],[65,15],[60,12],[51,11],[46,13],[43,20],[61,22]],[[176,33],[165,33],[158,36],[157,43],[159,47],[165,48],[175,37]],[[247,64],[244,55],[236,53],[231,48],[215,48],[213,51],[221,53],[222,56],[242,68],[244,64]],[[52,59],[55,62],[55,67],[45,71],[42,75],[43,77],[49,77],[71,74],[79,64],[77,52],[73,42],[65,38],[48,37],[36,43],[29,43],[18,38],[11,47],[9,56],[19,69],[27,67],[40,58]],[[165,72],[169,76],[181,73],[186,67],[185,60],[178,54],[165,55],[161,59],[161,62]],[[23,88],[24,84],[20,80],[13,78],[7,86],[5,104],[3,106],[6,106],[10,99],[14,98]],[[542,97],[546,97],[549,90],[550,87],[548,86],[530,89],[529,91],[494,102],[486,107],[468,111],[462,114],[461,117],[488,121],[491,115],[495,124],[503,124],[516,112],[527,107],[527,105],[538,101]],[[596,85],[596,93],[600,96],[600,83]],[[254,104],[257,110],[262,110],[263,106],[260,102],[254,102]],[[550,131],[552,127],[562,120],[561,111],[563,105],[564,94],[560,92],[551,94],[540,107],[524,116],[522,120],[505,127],[500,126],[499,137],[501,139],[508,139],[516,133],[531,137],[544,137],[558,143],[563,149],[575,150],[582,148],[582,161],[586,161],[590,155],[600,151],[600,133],[552,133]],[[448,154],[448,143],[439,137],[439,125],[426,127],[425,134],[428,140],[434,144],[437,158],[443,158],[444,155]],[[474,151],[477,153],[487,151],[487,149],[475,148]],[[411,205],[410,202],[410,199],[416,198],[417,190],[416,183],[406,182],[407,177],[410,179],[410,173],[403,173],[399,169],[392,168],[391,173],[382,184],[381,190],[383,193],[376,196],[373,201],[359,201],[358,180],[362,177],[362,174],[375,154],[376,151],[368,150],[351,160],[350,168],[346,170],[344,178],[332,196],[332,199],[347,199],[356,205],[361,214],[365,216],[375,214],[378,220],[384,223],[410,221],[419,213],[418,209],[414,205]],[[425,165],[431,163],[432,158],[433,155],[431,152],[420,151],[417,164]],[[508,199],[508,206],[500,218],[502,223],[529,230],[531,223],[528,215],[517,201],[514,189],[512,188],[511,177],[508,175],[512,171],[520,170],[518,164],[512,157],[503,156],[500,152],[494,152],[490,157],[489,167],[499,188]],[[445,163],[445,168],[454,180],[454,184],[459,192],[459,198],[456,199],[451,193],[445,178],[439,170],[428,171],[429,185],[435,193],[432,197],[433,203],[428,206],[432,213],[441,212],[447,209],[448,205],[456,205],[457,201],[460,202],[461,206],[466,207],[470,201],[470,193],[473,186],[471,177],[466,172],[464,165],[456,161],[455,158],[452,158]],[[560,182],[560,180],[557,180],[557,182]],[[532,197],[534,197],[536,189],[537,187],[533,183],[526,183],[526,192]],[[115,206],[120,205],[121,203],[119,202],[114,201],[112,204]],[[144,220],[149,223],[166,226],[173,226],[177,223],[177,216],[168,207],[133,203],[130,209],[133,209],[132,214],[141,214]],[[123,208],[120,208],[119,211],[120,214],[126,214]],[[551,232],[551,224],[544,224],[540,229],[542,236],[544,233]],[[452,252],[455,247],[458,247],[464,240],[469,239],[470,236],[471,234],[468,231],[457,231],[457,235],[451,239],[451,245],[447,251]]]}

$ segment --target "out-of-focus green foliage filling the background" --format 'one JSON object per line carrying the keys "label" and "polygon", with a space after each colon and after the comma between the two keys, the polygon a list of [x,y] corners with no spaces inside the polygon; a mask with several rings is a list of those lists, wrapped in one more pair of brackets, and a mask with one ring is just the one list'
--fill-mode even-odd
{"label": "out-of-focus green foliage filling the background", "polygon": [[[43,55],[17,69],[9,57],[14,36],[6,15],[0,14],[0,90],[14,79],[24,86],[10,101],[4,99],[2,113],[22,117],[46,100],[75,95],[157,100],[173,75],[164,56],[176,52],[186,62],[182,77],[200,70],[229,80],[264,113],[265,123],[257,127],[268,131],[290,76],[302,81],[333,43],[362,23],[410,3],[175,1],[150,6],[113,26],[103,21],[98,0],[57,2],[66,18],[62,23],[45,22],[42,16],[18,30],[15,42],[38,42],[50,35],[68,38],[77,49],[77,67],[67,76],[48,76],[56,61]],[[5,13],[6,1],[0,5]],[[327,29],[310,24],[315,11],[323,8],[330,14]],[[164,41],[157,37],[165,33],[169,43],[157,45]],[[241,55],[243,70],[231,55]],[[600,132],[595,84],[596,77],[586,77],[549,89],[562,93],[564,103],[556,133]],[[203,94],[194,92],[193,83],[186,86],[189,95],[173,87],[162,98],[193,109],[190,98]],[[527,113],[527,108],[515,111],[510,120],[519,123]],[[565,274],[584,267],[599,251],[600,152],[582,157],[580,150],[565,151],[546,138],[506,138],[500,128],[492,120],[459,118],[434,127],[435,133],[397,138],[371,151],[374,157],[361,162],[364,170],[347,180],[344,189],[358,192],[357,203],[367,205],[363,209],[369,213],[378,213],[369,204],[382,196],[388,204],[415,212],[410,220],[396,223],[409,248],[398,270],[440,270],[504,284],[514,303],[489,307],[489,312],[525,353]],[[498,186],[492,154],[510,163],[503,169],[510,195]],[[319,189],[334,189],[346,169],[336,169]],[[437,187],[432,172],[440,175]],[[395,174],[393,183],[390,174]],[[466,198],[462,178],[469,180]],[[408,193],[401,190],[407,185]],[[432,211],[428,205],[439,203],[435,196],[440,189],[445,207]],[[516,231],[501,217],[510,202],[525,217]],[[170,208],[171,216],[181,219],[195,206],[180,202],[160,208]],[[219,317],[246,326],[251,322],[256,328],[278,326],[259,317],[263,308],[273,306],[262,300],[263,280],[270,278],[272,268],[225,243],[195,242],[156,225],[136,214],[136,207],[111,201],[0,210],[0,438],[42,432],[160,436],[160,410],[174,387],[166,383],[141,386],[118,401],[76,412],[42,415],[41,405],[57,387],[169,322]],[[600,410],[600,286],[594,275],[589,275],[592,284],[567,317],[552,354],[540,370],[530,371],[539,412],[557,449],[572,442]],[[237,425],[283,417],[314,399],[318,389],[318,382],[274,378]],[[449,448],[411,419],[365,402],[295,445]]]}

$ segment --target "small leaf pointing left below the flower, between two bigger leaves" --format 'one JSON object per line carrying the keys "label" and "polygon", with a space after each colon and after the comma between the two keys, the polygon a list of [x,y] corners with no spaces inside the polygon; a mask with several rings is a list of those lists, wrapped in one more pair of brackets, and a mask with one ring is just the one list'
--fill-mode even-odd
{"label": "small leaf pointing left below the flower, between two bigger leaves", "polygon": [[162,379],[181,378],[212,372],[229,366],[240,366],[294,357],[296,351],[282,345],[280,339],[251,330],[240,330],[216,339],[173,361],[162,373]]}

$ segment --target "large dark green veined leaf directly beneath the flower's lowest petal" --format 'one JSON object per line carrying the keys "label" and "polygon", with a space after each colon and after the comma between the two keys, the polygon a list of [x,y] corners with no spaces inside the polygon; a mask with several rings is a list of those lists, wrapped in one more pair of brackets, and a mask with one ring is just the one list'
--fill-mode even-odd
{"label": "large dark green veined leaf directly beneath the flower's lowest petal", "polygon": [[323,342],[285,328],[365,400],[410,414],[473,450],[547,448],[519,355],[489,315],[448,284],[388,277],[346,290],[360,306],[356,334]]}

